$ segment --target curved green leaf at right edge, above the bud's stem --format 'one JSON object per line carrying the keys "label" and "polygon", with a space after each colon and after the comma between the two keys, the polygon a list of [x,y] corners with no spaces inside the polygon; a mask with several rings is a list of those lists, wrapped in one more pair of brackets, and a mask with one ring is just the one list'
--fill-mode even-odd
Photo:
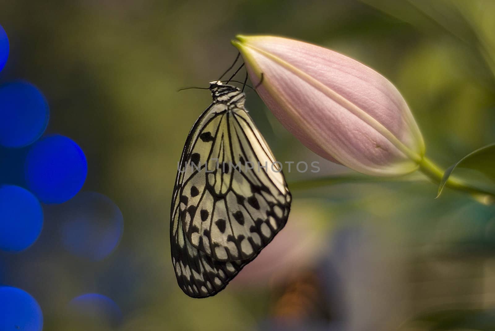
{"label": "curved green leaf at right edge, above the bud's stem", "polygon": [[442,193],[455,168],[477,170],[495,182],[495,143],[476,149],[448,167],[440,181],[437,197]]}

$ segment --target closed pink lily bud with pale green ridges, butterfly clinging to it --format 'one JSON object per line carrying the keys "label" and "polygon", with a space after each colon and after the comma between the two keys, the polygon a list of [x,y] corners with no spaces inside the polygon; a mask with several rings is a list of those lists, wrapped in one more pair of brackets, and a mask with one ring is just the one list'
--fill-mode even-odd
{"label": "closed pink lily bud with pale green ridges, butterfly clinging to it", "polygon": [[385,77],[345,55],[272,36],[236,36],[247,72],[275,117],[318,155],[355,171],[398,176],[418,168],[421,132]]}

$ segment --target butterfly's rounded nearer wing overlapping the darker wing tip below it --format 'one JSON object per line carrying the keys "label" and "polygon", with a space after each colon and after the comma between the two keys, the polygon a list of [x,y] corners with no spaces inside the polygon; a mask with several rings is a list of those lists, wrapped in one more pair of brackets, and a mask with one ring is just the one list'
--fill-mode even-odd
{"label": "butterfly's rounded nearer wing overlapping the darker wing tip below it", "polygon": [[[180,195],[190,243],[215,260],[250,259],[285,226],[291,195],[244,109],[217,114],[191,145]],[[206,139],[207,138],[207,139]]]}

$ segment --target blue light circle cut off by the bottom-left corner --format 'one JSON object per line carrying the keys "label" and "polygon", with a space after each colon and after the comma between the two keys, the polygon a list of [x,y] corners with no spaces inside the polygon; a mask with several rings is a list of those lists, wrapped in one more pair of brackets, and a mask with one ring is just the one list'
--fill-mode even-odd
{"label": "blue light circle cut off by the bottom-left corner", "polygon": [[43,313],[29,293],[10,286],[0,287],[0,330],[41,331]]}

